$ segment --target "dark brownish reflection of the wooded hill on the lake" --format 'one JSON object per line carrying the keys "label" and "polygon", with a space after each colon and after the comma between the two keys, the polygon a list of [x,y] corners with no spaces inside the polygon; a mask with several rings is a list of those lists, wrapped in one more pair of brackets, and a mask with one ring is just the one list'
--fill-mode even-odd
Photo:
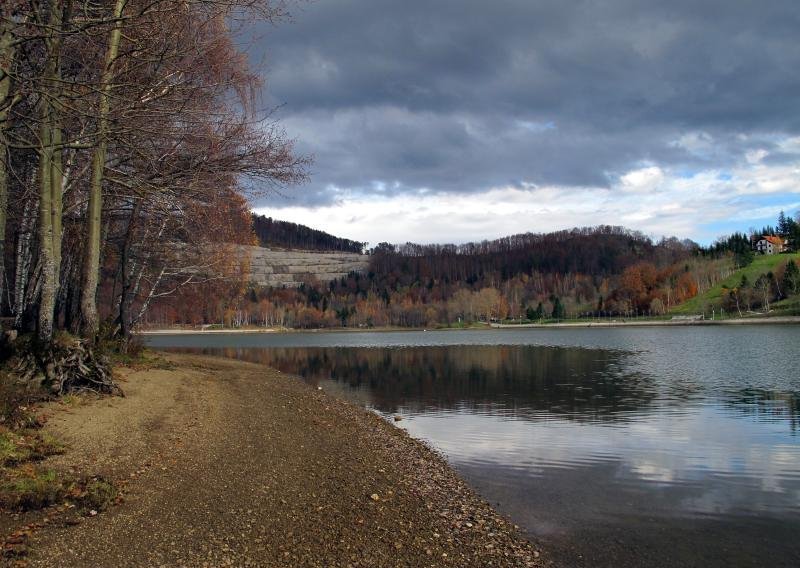
{"label": "dark brownish reflection of the wooded hill on the lake", "polygon": [[466,409],[624,420],[656,397],[652,378],[621,370],[625,353],[537,346],[204,349],[317,383],[367,389],[383,412]]}

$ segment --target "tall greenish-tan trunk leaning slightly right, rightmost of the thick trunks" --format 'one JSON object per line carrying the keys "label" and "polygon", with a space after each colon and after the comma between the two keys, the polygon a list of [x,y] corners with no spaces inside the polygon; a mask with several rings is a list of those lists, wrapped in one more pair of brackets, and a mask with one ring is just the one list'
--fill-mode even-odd
{"label": "tall greenish-tan trunk leaning slightly right, rightmost of the thick trunks", "polygon": [[108,38],[105,68],[100,80],[100,105],[98,112],[98,139],[92,158],[92,178],[89,188],[89,208],[87,211],[86,256],[83,262],[83,286],[81,297],[81,319],[84,335],[97,336],[99,318],[97,315],[97,283],[100,274],[100,227],[103,211],[103,172],[106,164],[106,135],[108,115],[111,110],[111,90],[114,79],[114,62],[119,51],[122,36],[120,20],[126,0],[114,4],[114,27]]}

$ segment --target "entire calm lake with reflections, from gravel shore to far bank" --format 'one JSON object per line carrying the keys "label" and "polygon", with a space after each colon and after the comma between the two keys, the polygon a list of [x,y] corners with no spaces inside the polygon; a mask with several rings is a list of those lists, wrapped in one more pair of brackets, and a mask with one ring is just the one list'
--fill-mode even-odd
{"label": "entire calm lake with reflections, from gravel shore to far bank", "polygon": [[402,416],[557,565],[800,565],[798,326],[147,341]]}

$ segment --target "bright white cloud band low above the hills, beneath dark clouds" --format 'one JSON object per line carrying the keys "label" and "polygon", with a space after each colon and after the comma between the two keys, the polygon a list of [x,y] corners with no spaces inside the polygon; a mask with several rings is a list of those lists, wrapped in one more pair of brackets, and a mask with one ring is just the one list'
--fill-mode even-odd
{"label": "bright white cloud band low above the hills, beneath dark clouds", "polygon": [[[784,146],[800,150],[800,140],[787,140]],[[374,180],[368,184],[370,195],[360,188],[336,187],[329,189],[335,189],[332,204],[287,207],[283,201],[257,211],[372,245],[466,242],[599,224],[709,242],[772,219],[781,209],[800,208],[800,200],[791,199],[800,194],[800,162],[769,165],[763,162],[766,155],[756,151],[737,168],[693,175],[647,165],[619,176],[610,188],[521,182],[478,193],[433,188],[398,193],[398,182]],[[726,224],[730,229],[719,228]],[[709,225],[715,228],[706,230]]]}

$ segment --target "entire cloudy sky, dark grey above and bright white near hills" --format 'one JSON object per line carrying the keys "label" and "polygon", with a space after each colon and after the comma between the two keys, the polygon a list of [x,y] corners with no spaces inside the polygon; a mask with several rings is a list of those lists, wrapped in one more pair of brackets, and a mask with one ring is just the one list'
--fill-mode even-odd
{"label": "entire cloudy sky, dark grey above and bright white near hills", "polygon": [[257,211],[369,241],[800,210],[797,0],[312,0],[262,27],[311,180]]}

